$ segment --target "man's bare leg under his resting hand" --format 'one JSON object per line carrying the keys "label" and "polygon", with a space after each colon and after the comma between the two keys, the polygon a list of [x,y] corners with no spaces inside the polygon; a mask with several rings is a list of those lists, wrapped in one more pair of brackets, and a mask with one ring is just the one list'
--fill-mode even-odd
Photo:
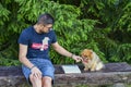
{"label": "man's bare leg under his resting hand", "polygon": [[31,74],[29,80],[31,80],[33,87],[41,87],[41,78],[37,78],[33,74]]}

